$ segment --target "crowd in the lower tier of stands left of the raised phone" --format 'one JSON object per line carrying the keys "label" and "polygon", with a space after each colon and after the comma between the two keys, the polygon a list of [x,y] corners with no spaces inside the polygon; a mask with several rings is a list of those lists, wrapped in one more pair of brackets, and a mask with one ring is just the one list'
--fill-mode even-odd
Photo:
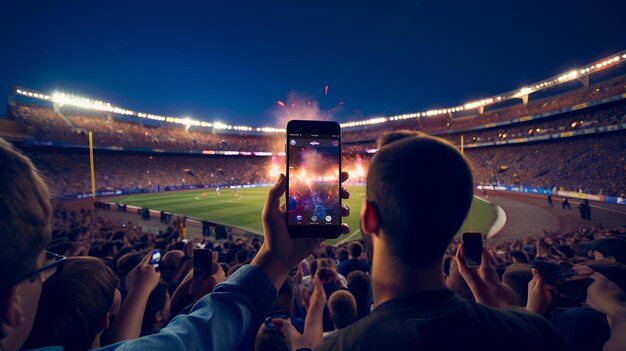
{"label": "crowd in the lower tier of stands left of the raised phone", "polygon": [[[91,191],[88,152],[31,150],[28,154],[53,195]],[[96,190],[268,184],[269,162],[266,157],[95,153]]]}

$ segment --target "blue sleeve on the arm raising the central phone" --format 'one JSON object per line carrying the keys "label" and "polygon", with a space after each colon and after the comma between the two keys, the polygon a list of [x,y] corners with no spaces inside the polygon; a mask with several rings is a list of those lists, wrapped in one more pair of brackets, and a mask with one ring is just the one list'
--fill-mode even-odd
{"label": "blue sleeve on the arm raising the central phone", "polygon": [[275,303],[276,289],[267,275],[245,265],[159,333],[98,350],[250,350],[254,329]]}

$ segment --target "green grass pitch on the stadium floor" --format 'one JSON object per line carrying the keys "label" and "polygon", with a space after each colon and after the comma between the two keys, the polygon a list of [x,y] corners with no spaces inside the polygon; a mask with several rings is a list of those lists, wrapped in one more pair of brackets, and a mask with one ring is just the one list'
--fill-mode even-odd
{"label": "green grass pitch on the stadium floor", "polygon": [[[350,199],[343,200],[343,204],[350,206],[351,214],[349,217],[344,218],[344,222],[350,226],[351,233],[329,240],[329,243],[361,238],[358,219],[361,200],[365,195],[365,187],[347,186],[347,188],[350,191]],[[233,189],[220,189],[220,195],[218,196],[214,189],[200,189],[119,196],[109,201],[147,207],[157,211],[173,212],[187,217],[207,219],[261,234],[261,211],[265,204],[267,190],[267,187],[239,189],[238,196],[235,196]],[[495,207],[474,198],[470,213],[459,233],[479,231],[486,234],[495,220]],[[419,223],[415,223],[415,225],[419,226]]]}

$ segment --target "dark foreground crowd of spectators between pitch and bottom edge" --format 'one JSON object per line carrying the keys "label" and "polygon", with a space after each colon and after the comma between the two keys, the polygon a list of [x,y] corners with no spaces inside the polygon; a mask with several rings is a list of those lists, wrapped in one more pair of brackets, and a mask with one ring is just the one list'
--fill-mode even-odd
{"label": "dark foreground crowd of spectators between pitch and bottom edge", "polygon": [[[123,313],[129,296],[132,298],[132,288],[128,291],[127,280],[134,270],[141,269],[145,257],[154,250],[160,250],[162,255],[160,279],[152,277],[152,290],[145,294],[145,301],[139,299],[145,310],[140,311],[142,318],[137,320],[140,335],[158,333],[169,320],[188,313],[202,294],[209,293],[240,267],[250,263],[263,243],[259,237],[183,240],[180,220],[174,219],[162,232],[150,233],[144,231],[140,223],[112,219],[98,211],[54,207],[52,238],[47,250],[70,258],[65,263],[61,279],[44,285],[26,347],[62,344],[70,350],[88,350],[119,341],[117,335],[123,333],[113,326]],[[459,269],[465,265],[457,253],[460,244],[461,241],[455,239],[446,249],[442,268],[447,277],[446,286],[461,297],[478,300],[480,297],[475,296],[478,292],[472,290],[471,281],[468,282],[463,269]],[[198,285],[194,283],[193,273],[189,272],[193,268],[194,249],[200,247],[212,249],[215,253],[213,265],[217,273],[199,284],[199,293],[190,293],[190,287]],[[528,286],[537,273],[532,271],[531,265],[537,261],[560,266],[584,264],[605,272],[603,274],[613,277],[619,286],[626,288],[626,228],[590,226],[564,233],[538,231],[525,238],[498,240],[496,237],[485,241],[484,250],[483,257],[488,260],[489,269],[497,274],[497,282],[492,283],[500,284],[503,289],[501,299],[508,301],[507,304],[525,307],[549,318],[572,350],[599,350],[608,339],[610,326],[603,314],[568,296],[571,292],[564,287],[554,283],[547,302],[536,301],[540,300],[538,298],[533,300]],[[290,333],[306,333],[307,324],[315,323],[311,321],[313,317],[319,319],[317,323],[323,330],[323,340],[332,339],[335,332],[366,317],[373,308],[370,259],[363,241],[322,244],[292,269],[281,286],[277,305],[270,314],[270,317],[280,319],[274,321],[278,327],[268,326],[269,322],[262,324],[256,336],[256,349],[287,349],[287,339],[292,337]],[[543,279],[548,280],[548,277]],[[77,281],[82,284],[76,285]],[[69,295],[67,291],[73,294]],[[94,291],[103,291],[102,304],[106,308],[103,305],[88,306],[99,308],[99,312],[94,316],[83,316],[89,318],[87,320],[73,320],[70,325],[56,326],[55,323],[68,318],[69,306],[80,303],[81,294],[89,295]],[[109,322],[103,324],[105,318]],[[588,334],[578,334],[578,329],[571,329],[573,323],[583,322],[580,328],[592,328],[597,334],[589,337]],[[95,332],[88,330],[96,326]],[[85,328],[85,333],[79,333],[81,338],[64,338],[72,332],[69,328],[74,331]]]}

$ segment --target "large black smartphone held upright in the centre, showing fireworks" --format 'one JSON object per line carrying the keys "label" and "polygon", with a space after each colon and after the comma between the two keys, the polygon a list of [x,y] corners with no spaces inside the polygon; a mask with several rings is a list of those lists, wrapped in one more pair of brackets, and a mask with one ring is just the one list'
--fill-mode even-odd
{"label": "large black smartphone held upright in the centre, showing fireworks", "polygon": [[292,238],[341,234],[341,127],[329,121],[287,123],[287,211]]}

